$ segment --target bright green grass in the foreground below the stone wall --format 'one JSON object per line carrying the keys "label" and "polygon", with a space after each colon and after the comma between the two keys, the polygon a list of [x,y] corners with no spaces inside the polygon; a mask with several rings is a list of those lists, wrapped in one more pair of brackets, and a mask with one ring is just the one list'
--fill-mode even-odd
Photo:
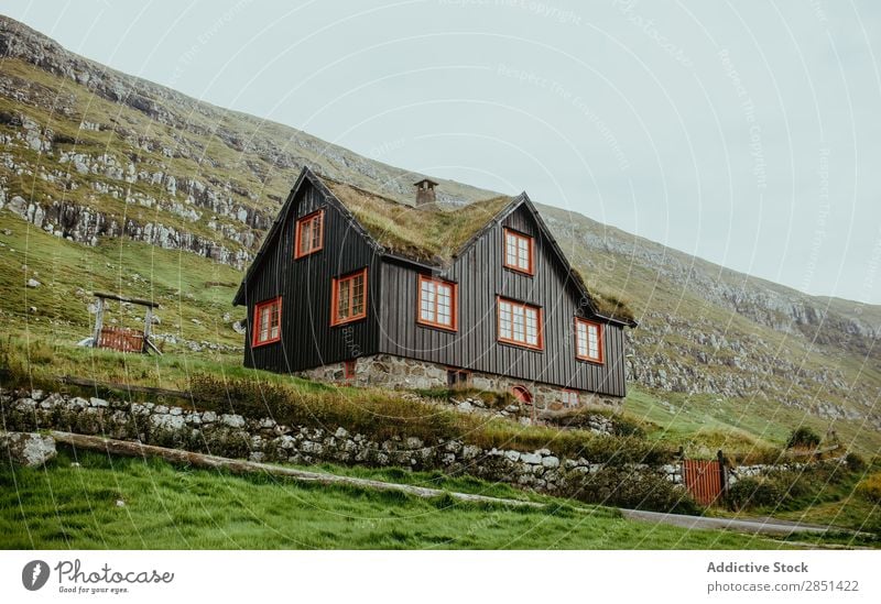
{"label": "bright green grass in the foreground below the stone wall", "polygon": [[[79,468],[72,466],[76,459]],[[383,471],[387,475],[392,472]],[[395,476],[406,473],[400,471]],[[416,476],[418,477],[418,476]],[[449,482],[447,486],[460,486]],[[46,469],[0,469],[3,549],[776,549],[771,539],[547,509],[422,499],[62,449]],[[488,493],[496,485],[471,483]],[[117,501],[124,506],[117,506]]]}

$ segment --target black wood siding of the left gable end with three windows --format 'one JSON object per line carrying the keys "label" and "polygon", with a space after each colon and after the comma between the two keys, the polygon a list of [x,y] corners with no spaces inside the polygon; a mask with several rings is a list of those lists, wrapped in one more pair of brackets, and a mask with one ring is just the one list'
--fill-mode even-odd
{"label": "black wood siding of the left gable end with three windows", "polygon": [[[324,248],[294,260],[296,219],[324,208]],[[377,352],[380,300],[379,256],[359,230],[309,180],[293,199],[278,239],[246,284],[248,333],[244,365],[280,373],[300,371]],[[331,279],[368,267],[367,318],[330,327]],[[251,322],[257,303],[282,296],[280,342],[251,347]]]}

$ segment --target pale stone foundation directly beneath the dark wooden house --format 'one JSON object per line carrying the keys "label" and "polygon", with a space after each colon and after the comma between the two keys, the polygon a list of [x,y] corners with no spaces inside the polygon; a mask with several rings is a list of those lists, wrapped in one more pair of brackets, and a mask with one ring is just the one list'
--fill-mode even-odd
{"label": "pale stone foundation directly beneath the dark wooden house", "polygon": [[[357,359],[355,375],[349,378],[346,377],[345,363],[331,363],[297,372],[296,375],[309,380],[337,384],[345,383],[352,386],[420,389],[446,387],[447,369],[446,365],[415,359],[405,359],[391,354],[374,354]],[[567,406],[581,407],[588,405],[618,408],[621,404],[621,399],[614,396],[584,391],[567,391],[553,384],[525,382],[505,375],[475,371],[470,373],[470,385],[480,391],[511,392],[514,386],[523,386],[530,392],[534,405],[540,409],[562,409]],[[578,404],[567,405],[564,402],[565,392],[575,392],[578,397]]]}

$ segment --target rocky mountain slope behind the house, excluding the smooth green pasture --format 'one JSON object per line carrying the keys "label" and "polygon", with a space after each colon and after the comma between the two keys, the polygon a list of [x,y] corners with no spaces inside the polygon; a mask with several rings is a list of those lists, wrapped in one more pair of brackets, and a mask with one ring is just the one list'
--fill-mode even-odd
{"label": "rocky mountain slope behind the house, excluding the smooth green pasture", "polygon": [[[240,270],[302,166],[402,201],[422,176],[115,72],[7,18],[0,55],[4,224],[23,219],[91,246],[124,237]],[[494,195],[435,179],[446,202]],[[626,300],[640,321],[629,334],[633,382],[707,413],[724,399],[741,419],[804,416],[878,436],[881,307],[807,296],[580,215],[540,209],[591,289]],[[9,316],[25,311],[3,298]],[[50,306],[50,317],[88,323],[69,305]]]}

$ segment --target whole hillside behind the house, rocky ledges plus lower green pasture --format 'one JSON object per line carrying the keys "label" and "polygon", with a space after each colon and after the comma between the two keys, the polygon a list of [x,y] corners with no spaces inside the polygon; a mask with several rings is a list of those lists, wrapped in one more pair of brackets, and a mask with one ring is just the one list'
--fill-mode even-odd
{"label": "whole hillside behind the house, rocky ledges plus lower green pasture", "polygon": [[[7,18],[0,55],[0,318],[10,350],[42,378],[283,381],[241,367],[233,325],[243,317],[230,301],[300,169],[400,201],[422,176],[115,72]],[[497,195],[435,179],[449,205]],[[834,432],[842,450],[881,448],[881,308],[540,209],[591,292],[640,323],[628,331],[626,409],[657,427],[650,439],[747,455],[782,447],[804,424]],[[89,293],[101,289],[162,305],[164,356],[74,345],[90,334]],[[138,307],[109,315],[139,319]]]}

